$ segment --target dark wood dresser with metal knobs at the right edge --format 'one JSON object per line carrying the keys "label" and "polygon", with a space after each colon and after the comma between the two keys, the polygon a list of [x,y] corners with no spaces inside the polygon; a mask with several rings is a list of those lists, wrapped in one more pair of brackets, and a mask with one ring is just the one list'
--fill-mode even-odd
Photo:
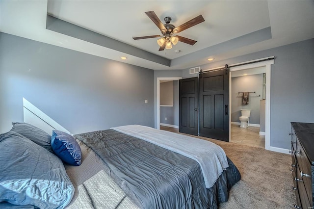
{"label": "dark wood dresser with metal knobs at the right edge", "polygon": [[313,209],[314,123],[291,122],[291,172],[297,209]]}

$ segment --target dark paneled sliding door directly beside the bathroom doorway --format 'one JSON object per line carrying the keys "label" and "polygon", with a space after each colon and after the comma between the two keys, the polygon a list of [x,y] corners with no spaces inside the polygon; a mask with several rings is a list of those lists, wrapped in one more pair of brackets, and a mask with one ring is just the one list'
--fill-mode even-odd
{"label": "dark paneled sliding door directly beside the bathroom doorway", "polygon": [[200,136],[229,141],[229,71],[200,75]]}

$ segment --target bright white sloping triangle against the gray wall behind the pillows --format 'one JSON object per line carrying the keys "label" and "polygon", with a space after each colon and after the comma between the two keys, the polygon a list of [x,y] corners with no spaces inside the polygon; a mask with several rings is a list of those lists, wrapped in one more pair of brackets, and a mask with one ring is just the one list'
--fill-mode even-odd
{"label": "bright white sloping triangle against the gray wall behind the pillows", "polygon": [[43,111],[28,102],[25,98],[23,98],[23,112],[25,123],[34,125],[49,134],[52,134],[52,130],[64,131],[71,134],[70,131],[66,130],[60,124],[52,120],[51,117],[49,117]]}

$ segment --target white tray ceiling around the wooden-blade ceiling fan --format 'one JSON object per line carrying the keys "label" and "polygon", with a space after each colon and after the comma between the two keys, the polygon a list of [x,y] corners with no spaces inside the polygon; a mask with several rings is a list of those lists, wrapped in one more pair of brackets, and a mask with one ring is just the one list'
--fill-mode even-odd
{"label": "white tray ceiling around the wooden-blade ceiling fan", "polygon": [[[219,61],[314,38],[313,0],[1,0],[0,9],[2,32],[154,70],[187,69],[209,63],[209,57]],[[158,52],[158,38],[133,40],[160,34],[145,14],[152,10],[163,23],[170,16],[175,26],[202,14],[205,22],[178,34],[197,43],[179,42],[171,50]],[[47,14],[170,59],[171,65],[46,29]],[[271,28],[267,40],[226,44],[267,27]]]}

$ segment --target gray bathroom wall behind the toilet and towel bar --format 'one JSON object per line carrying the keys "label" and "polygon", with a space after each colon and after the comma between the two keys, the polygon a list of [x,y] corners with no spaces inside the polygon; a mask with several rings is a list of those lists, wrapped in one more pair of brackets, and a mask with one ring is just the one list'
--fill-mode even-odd
{"label": "gray bathroom wall behind the toilet and towel bar", "polygon": [[[260,100],[262,99],[263,75],[240,76],[231,79],[231,121],[240,122],[241,109],[251,109],[250,121],[251,124],[260,124]],[[249,103],[242,105],[242,93],[250,92]],[[261,97],[259,97],[261,95]]]}

